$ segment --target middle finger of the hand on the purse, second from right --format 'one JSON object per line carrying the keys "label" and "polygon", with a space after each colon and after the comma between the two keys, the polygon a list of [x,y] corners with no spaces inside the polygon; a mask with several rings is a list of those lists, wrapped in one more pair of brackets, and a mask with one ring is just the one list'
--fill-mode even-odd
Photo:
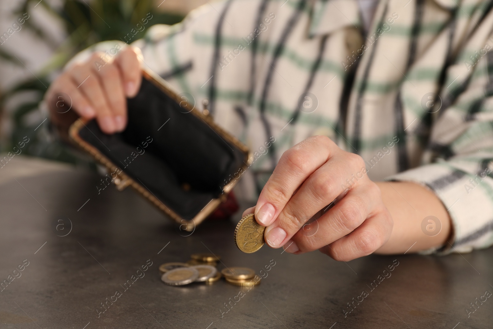
{"label": "middle finger of the hand on the purse, second from right", "polygon": [[98,74],[103,85],[106,103],[109,105],[113,117],[115,131],[123,131],[127,124],[127,102],[123,91],[123,79],[120,70],[112,63],[98,66],[93,70]]}

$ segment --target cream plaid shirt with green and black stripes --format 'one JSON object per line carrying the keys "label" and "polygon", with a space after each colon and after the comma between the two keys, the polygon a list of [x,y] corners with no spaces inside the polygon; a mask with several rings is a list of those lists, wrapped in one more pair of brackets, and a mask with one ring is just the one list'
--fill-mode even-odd
{"label": "cream plaid shirt with green and black stripes", "polygon": [[492,5],[380,0],[363,35],[356,0],[226,0],[134,45],[254,152],[237,194],[255,197],[282,152],[326,135],[372,180],[431,189],[453,221],[441,252],[468,252],[493,243]]}

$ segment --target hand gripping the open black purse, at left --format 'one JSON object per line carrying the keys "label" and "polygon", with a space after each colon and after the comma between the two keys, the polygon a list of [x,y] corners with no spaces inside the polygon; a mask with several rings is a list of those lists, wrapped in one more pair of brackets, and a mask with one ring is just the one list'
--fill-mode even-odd
{"label": "hand gripping the open black purse, at left", "polygon": [[[58,106],[60,95],[67,94],[71,109],[78,116],[96,118],[106,134],[123,131],[127,125],[126,98],[135,97],[141,86],[138,51],[126,47],[113,58],[96,52],[87,62],[66,69],[53,81],[45,95],[53,121],[67,121],[64,115],[73,120],[73,114],[66,114]],[[70,100],[65,102],[70,104]]]}

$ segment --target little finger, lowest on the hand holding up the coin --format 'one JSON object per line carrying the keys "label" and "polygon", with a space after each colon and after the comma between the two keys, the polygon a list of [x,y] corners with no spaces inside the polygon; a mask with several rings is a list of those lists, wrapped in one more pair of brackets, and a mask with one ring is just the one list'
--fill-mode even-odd
{"label": "little finger, lowest on the hand holding up the coin", "polygon": [[390,238],[393,220],[387,209],[366,219],[351,234],[330,245],[320,248],[320,252],[335,260],[349,261],[370,255],[382,247]]}

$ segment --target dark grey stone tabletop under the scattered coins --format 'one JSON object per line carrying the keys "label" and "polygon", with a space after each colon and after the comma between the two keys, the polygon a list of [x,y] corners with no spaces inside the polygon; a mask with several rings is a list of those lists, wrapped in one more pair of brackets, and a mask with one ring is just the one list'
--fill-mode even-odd
{"label": "dark grey stone tabletop under the scattered coins", "polygon": [[[348,263],[243,254],[238,217],[184,236],[132,190],[98,194],[96,175],[49,163],[16,176],[29,163],[0,171],[0,328],[493,328],[493,249]],[[220,267],[263,269],[262,283],[160,281],[159,264],[209,251]]]}

